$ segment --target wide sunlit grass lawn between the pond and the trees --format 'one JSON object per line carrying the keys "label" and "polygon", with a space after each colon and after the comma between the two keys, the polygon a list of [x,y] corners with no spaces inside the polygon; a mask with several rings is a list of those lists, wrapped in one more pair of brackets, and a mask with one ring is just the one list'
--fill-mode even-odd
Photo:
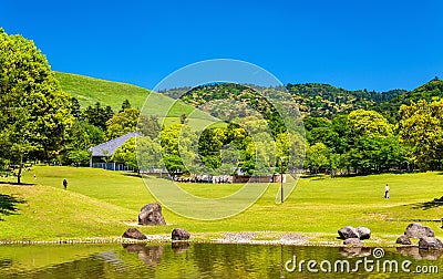
{"label": "wide sunlit grass lawn between the pond and the trees", "polygon": [[[32,174],[37,174],[37,180]],[[69,182],[63,190],[62,180]],[[4,178],[1,194],[22,197],[17,215],[0,221],[0,239],[51,240],[78,237],[119,237],[137,220],[140,208],[154,202],[143,179],[126,173],[103,169],[35,166],[23,182],[10,185]],[[11,180],[12,182],[12,180]],[[165,180],[150,178],[162,185]],[[391,197],[383,198],[385,183]],[[383,174],[360,177],[301,178],[289,199],[276,205],[278,184],[244,213],[231,218],[202,221],[181,217],[164,208],[167,226],[141,227],[145,234],[169,234],[174,227],[216,236],[222,231],[297,231],[319,241],[337,241],[337,230],[346,225],[367,226],[370,242],[392,244],[408,221],[388,219],[440,219],[443,205],[441,173]],[[197,196],[220,197],[240,185],[182,184]],[[424,223],[443,237],[440,223]],[[198,235],[198,234],[197,234]]]}

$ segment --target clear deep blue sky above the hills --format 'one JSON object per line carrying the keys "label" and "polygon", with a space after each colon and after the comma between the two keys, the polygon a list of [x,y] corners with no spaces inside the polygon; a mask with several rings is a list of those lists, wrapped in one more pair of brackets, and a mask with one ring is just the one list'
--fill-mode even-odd
{"label": "clear deep blue sky above the hills", "polygon": [[208,59],[257,64],[282,83],[412,90],[443,78],[443,1],[16,1],[0,27],[53,70],[153,89]]}

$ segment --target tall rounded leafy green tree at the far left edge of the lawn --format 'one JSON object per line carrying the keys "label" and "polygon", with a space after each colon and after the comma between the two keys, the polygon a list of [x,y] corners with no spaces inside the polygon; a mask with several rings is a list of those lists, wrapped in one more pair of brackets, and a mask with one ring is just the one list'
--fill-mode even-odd
{"label": "tall rounded leafy green tree at the far left edge of the lawn", "polygon": [[0,156],[21,169],[58,155],[72,123],[71,97],[34,43],[0,29]]}

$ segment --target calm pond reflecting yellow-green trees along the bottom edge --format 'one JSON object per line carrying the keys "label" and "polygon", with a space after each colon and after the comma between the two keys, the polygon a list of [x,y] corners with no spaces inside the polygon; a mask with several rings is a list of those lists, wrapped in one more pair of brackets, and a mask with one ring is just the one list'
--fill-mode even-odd
{"label": "calm pond reflecting yellow-green trees along the bottom edge", "polygon": [[0,278],[441,278],[442,254],[187,242],[0,246]]}

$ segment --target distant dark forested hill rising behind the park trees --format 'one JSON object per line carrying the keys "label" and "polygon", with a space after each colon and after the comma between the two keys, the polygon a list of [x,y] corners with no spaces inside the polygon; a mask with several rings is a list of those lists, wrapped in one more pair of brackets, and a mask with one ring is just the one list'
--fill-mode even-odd
{"label": "distant dark forested hill rising behind the park trees", "polygon": [[[259,86],[251,86],[250,91],[253,91],[254,87],[261,92],[281,91],[281,89],[278,87],[265,89]],[[320,83],[288,83],[285,89],[291,94],[293,103],[297,104],[301,115],[332,120],[338,114],[349,114],[352,111],[363,108],[379,112],[388,118],[391,124],[396,124],[399,122],[399,110],[402,104],[410,105],[411,102],[418,102],[420,100],[431,102],[435,97],[443,97],[443,81],[436,76],[413,91],[401,89],[387,92],[368,91],[365,89],[350,91]],[[186,94],[184,92],[186,92]],[[261,102],[260,100],[256,100],[256,95],[248,93],[247,90],[240,92],[231,85],[229,85],[228,89],[227,85],[224,84],[203,85],[195,89],[172,89],[162,91],[161,93],[173,99],[181,97],[181,100],[184,100],[190,105],[202,105],[208,100],[233,100],[233,95],[236,93],[244,94],[241,99],[246,104]],[[272,93],[269,93],[269,95],[272,95]],[[217,110],[217,107],[214,107],[214,110]]]}

